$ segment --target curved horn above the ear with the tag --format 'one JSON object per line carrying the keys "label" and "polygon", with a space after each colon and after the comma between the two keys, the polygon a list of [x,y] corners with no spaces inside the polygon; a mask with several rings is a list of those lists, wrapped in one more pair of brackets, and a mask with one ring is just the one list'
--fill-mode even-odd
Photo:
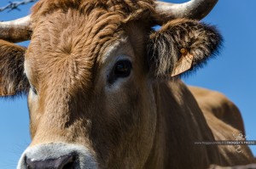
{"label": "curved horn above the ear with the tag", "polygon": [[191,0],[187,3],[156,2],[156,19],[160,23],[177,18],[201,20],[210,13],[218,0]]}

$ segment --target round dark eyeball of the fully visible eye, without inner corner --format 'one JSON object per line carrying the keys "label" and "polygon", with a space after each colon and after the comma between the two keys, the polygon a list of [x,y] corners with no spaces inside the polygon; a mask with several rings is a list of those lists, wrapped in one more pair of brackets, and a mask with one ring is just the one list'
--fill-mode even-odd
{"label": "round dark eyeball of the fully visible eye, without inner corner", "polygon": [[129,60],[119,60],[114,66],[114,74],[117,77],[126,77],[131,73],[131,62]]}

